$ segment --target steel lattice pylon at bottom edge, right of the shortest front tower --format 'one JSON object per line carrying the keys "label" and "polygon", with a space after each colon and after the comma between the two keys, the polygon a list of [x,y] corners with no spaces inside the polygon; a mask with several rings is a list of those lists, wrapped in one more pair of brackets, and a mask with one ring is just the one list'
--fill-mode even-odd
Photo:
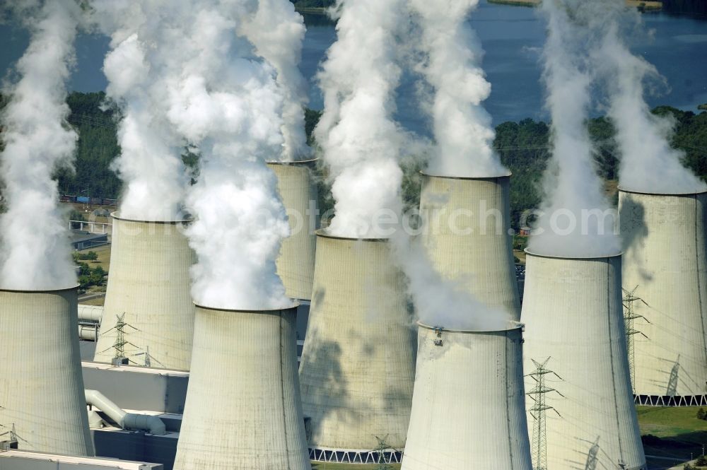
{"label": "steel lattice pylon at bottom edge, right of the shortest front tower", "polygon": [[545,368],[550,358],[544,360],[544,362],[539,363],[537,360],[531,359],[532,363],[535,365],[535,371],[528,374],[527,377],[532,377],[535,381],[535,387],[533,387],[530,392],[526,394],[534,401],[534,405],[530,408],[530,414],[534,419],[532,428],[532,463],[534,470],[547,470],[547,439],[545,430],[545,414],[548,410],[552,410],[560,416],[560,413],[549,406],[545,402],[545,395],[550,392],[556,392],[559,396],[564,397],[563,394],[558,392],[556,389],[552,389],[545,385],[545,376],[552,374],[555,377],[562,380],[562,378],[555,372]]}

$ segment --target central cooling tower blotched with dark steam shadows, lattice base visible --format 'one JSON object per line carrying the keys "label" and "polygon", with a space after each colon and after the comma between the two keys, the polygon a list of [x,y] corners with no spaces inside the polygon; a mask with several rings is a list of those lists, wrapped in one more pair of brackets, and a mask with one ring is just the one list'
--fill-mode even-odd
{"label": "central cooling tower blotched with dark steam shadows, lattice base visible", "polygon": [[317,232],[312,310],[300,387],[310,457],[399,461],[414,383],[414,333],[387,240]]}

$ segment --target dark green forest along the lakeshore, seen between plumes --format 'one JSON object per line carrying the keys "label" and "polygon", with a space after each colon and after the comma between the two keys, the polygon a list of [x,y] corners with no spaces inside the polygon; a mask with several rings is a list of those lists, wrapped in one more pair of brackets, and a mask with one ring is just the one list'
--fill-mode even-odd
{"label": "dark green forest along the lakeshore, seen between plumes", "polygon": [[[76,129],[79,139],[76,171],[63,170],[57,173],[59,192],[117,198],[120,180],[110,166],[120,151],[116,136],[117,111],[104,106],[104,93],[71,93],[67,102],[71,108],[68,124]],[[3,104],[4,100],[0,96],[0,107]],[[684,163],[707,180],[707,112],[695,114],[667,106],[657,107],[653,112],[672,115],[675,124],[672,144],[685,152]],[[316,145],[312,131],[319,117],[320,112],[306,112],[306,130],[312,145]],[[597,172],[607,181],[609,190],[615,192],[618,162],[612,123],[599,117],[590,119],[588,127],[595,142]],[[510,207],[513,227],[516,229],[519,228],[521,213],[537,207],[542,198],[542,173],[550,155],[549,136],[549,125],[533,119],[504,122],[496,127],[494,146],[503,164],[513,172]],[[196,155],[184,155],[184,159],[188,165],[198,165]],[[423,170],[424,165],[413,160],[402,166],[405,173],[402,195],[407,206],[416,206],[420,190],[419,170]],[[332,201],[325,182],[326,168],[320,165],[316,171],[320,182],[320,208],[323,212],[331,208]]]}

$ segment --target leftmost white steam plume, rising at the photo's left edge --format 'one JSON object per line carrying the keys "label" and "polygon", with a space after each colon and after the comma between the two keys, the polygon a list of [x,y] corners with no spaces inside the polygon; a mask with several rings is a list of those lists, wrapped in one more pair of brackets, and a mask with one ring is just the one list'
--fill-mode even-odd
{"label": "leftmost white steam plume, rising at the photo's left edge", "polygon": [[73,168],[76,132],[66,124],[66,80],[74,62],[81,8],[74,0],[17,2],[30,29],[30,45],[18,61],[20,80],[4,88],[0,116],[0,287],[37,290],[76,283],[66,226],[57,201],[57,168]]}

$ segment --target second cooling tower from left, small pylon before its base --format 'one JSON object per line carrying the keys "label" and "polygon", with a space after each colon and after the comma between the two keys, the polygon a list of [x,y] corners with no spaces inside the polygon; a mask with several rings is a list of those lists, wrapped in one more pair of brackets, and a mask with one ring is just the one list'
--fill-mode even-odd
{"label": "second cooling tower from left, small pylon before its base", "polygon": [[196,259],[182,223],[112,217],[110,272],[95,360],[110,363],[123,348],[124,357],[137,365],[188,370],[194,325],[189,267]]}

